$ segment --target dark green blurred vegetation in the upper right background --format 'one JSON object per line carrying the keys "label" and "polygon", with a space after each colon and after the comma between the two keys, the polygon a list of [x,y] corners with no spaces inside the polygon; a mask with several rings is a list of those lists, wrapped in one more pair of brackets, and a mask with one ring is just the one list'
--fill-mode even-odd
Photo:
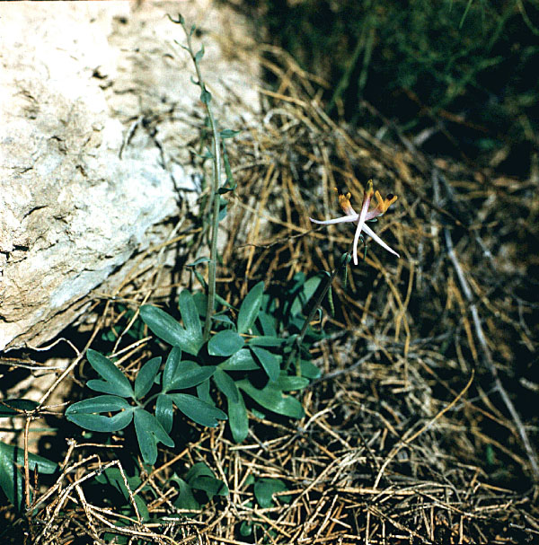
{"label": "dark green blurred vegetation in the upper right background", "polygon": [[539,3],[245,0],[261,38],[328,85],[335,119],[379,118],[449,155],[509,175],[537,168]]}

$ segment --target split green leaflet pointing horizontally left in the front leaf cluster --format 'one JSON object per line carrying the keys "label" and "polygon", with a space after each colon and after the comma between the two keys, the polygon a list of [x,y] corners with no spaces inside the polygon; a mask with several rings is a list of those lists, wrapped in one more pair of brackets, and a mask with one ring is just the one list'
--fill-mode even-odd
{"label": "split green leaflet pointing horizontally left in the front leaf cluster", "polygon": [[[113,417],[103,417],[100,413],[119,410]],[[66,418],[77,426],[93,432],[117,432],[127,427],[133,418],[133,407],[118,396],[103,395],[78,401],[66,409]]]}

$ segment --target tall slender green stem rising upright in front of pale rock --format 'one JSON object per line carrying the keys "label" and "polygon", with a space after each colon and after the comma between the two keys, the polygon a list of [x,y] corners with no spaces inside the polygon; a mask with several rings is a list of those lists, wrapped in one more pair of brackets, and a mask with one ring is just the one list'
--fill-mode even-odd
{"label": "tall slender green stem rising upright in front of pale rock", "polygon": [[[173,20],[172,20],[173,21]],[[175,21],[174,21],[175,22]],[[208,263],[208,306],[206,310],[206,321],[204,322],[204,338],[208,340],[209,332],[211,330],[211,319],[215,309],[216,302],[216,262],[217,262],[217,234],[219,229],[219,206],[220,206],[220,196],[219,196],[219,181],[221,180],[221,144],[219,131],[217,129],[216,120],[213,116],[213,112],[209,105],[210,96],[206,90],[206,85],[202,79],[202,74],[199,67],[199,57],[193,51],[191,46],[191,34],[192,31],[188,31],[185,26],[185,22],[182,18],[178,21],[185,31],[185,36],[187,38],[187,51],[190,54],[190,57],[193,60],[195,69],[197,71],[197,77],[199,78],[199,87],[202,90],[201,100],[206,108],[208,113],[209,124],[211,127],[213,135],[213,145],[212,145],[212,154],[213,154],[213,176],[212,176],[212,188],[210,194],[210,208],[211,203],[213,203],[213,210],[211,213],[211,242],[209,249],[209,263]],[[200,57],[201,58],[201,57]]]}

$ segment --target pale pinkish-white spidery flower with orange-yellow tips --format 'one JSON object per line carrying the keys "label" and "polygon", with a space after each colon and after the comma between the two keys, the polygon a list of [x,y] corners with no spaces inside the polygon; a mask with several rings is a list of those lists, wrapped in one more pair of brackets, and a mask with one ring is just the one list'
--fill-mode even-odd
{"label": "pale pinkish-white spidery flower with orange-yellow tips", "polygon": [[[373,219],[377,217],[378,215],[383,215],[384,212],[387,210],[387,208],[391,207],[395,200],[397,200],[395,195],[389,194],[387,198],[382,198],[380,193],[376,191],[376,193],[373,191],[373,180],[368,180],[367,182],[367,189],[365,190],[365,194],[363,196],[363,204],[361,206],[361,212],[359,214],[356,213],[354,208],[352,208],[352,205],[350,205],[350,194],[349,193],[340,193],[337,188],[335,188],[335,191],[339,193],[339,204],[342,208],[343,212],[346,215],[343,215],[341,217],[336,217],[335,219],[326,220],[324,222],[318,221],[310,217],[309,219],[314,224],[321,224],[321,225],[330,225],[330,224],[344,224],[347,222],[358,224],[358,227],[356,228],[356,234],[354,235],[354,246],[353,246],[353,259],[354,259],[354,265],[358,265],[358,242],[359,242],[359,235],[363,231],[364,233],[367,233],[375,242],[380,244],[382,248],[385,250],[393,253],[393,255],[397,256],[397,258],[400,258],[401,256],[394,250],[392,250],[365,222],[369,219]],[[378,205],[374,210],[368,211],[368,208],[370,207],[370,201],[373,195],[376,196],[376,200],[378,201]]]}

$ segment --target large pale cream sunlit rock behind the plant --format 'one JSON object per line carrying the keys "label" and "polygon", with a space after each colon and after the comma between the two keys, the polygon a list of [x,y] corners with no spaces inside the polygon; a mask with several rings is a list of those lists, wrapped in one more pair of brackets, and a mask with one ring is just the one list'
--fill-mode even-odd
{"label": "large pale cream sunlit rock behind the plant", "polygon": [[[163,237],[196,191],[188,142],[199,135],[199,88],[177,3],[4,3],[0,6],[0,350],[39,346],[112,291],[128,259]],[[210,2],[186,20],[234,27]],[[203,34],[217,104],[228,86],[256,103],[256,67]],[[225,75],[225,84],[220,81]],[[226,127],[243,111],[227,105]],[[159,225],[161,224],[161,227]]]}

